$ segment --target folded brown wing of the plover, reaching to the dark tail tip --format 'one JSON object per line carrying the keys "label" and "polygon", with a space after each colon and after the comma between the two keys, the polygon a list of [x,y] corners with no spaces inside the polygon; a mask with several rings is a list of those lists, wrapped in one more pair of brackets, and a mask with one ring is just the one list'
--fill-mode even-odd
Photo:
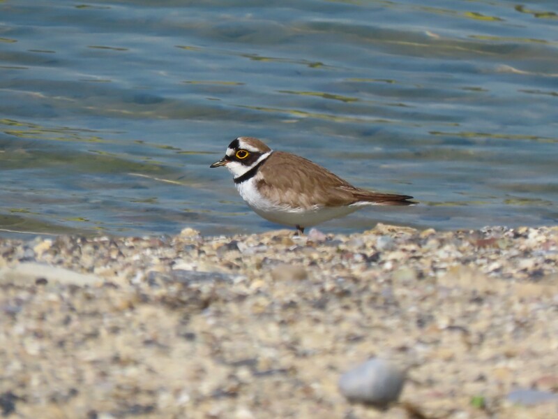
{"label": "folded brown wing of the plover, reaching to the dark tail tip", "polygon": [[303,157],[273,152],[260,168],[260,193],[292,207],[338,207],[359,201],[377,205],[410,205],[410,196],[375,193],[355,188],[344,179]]}

